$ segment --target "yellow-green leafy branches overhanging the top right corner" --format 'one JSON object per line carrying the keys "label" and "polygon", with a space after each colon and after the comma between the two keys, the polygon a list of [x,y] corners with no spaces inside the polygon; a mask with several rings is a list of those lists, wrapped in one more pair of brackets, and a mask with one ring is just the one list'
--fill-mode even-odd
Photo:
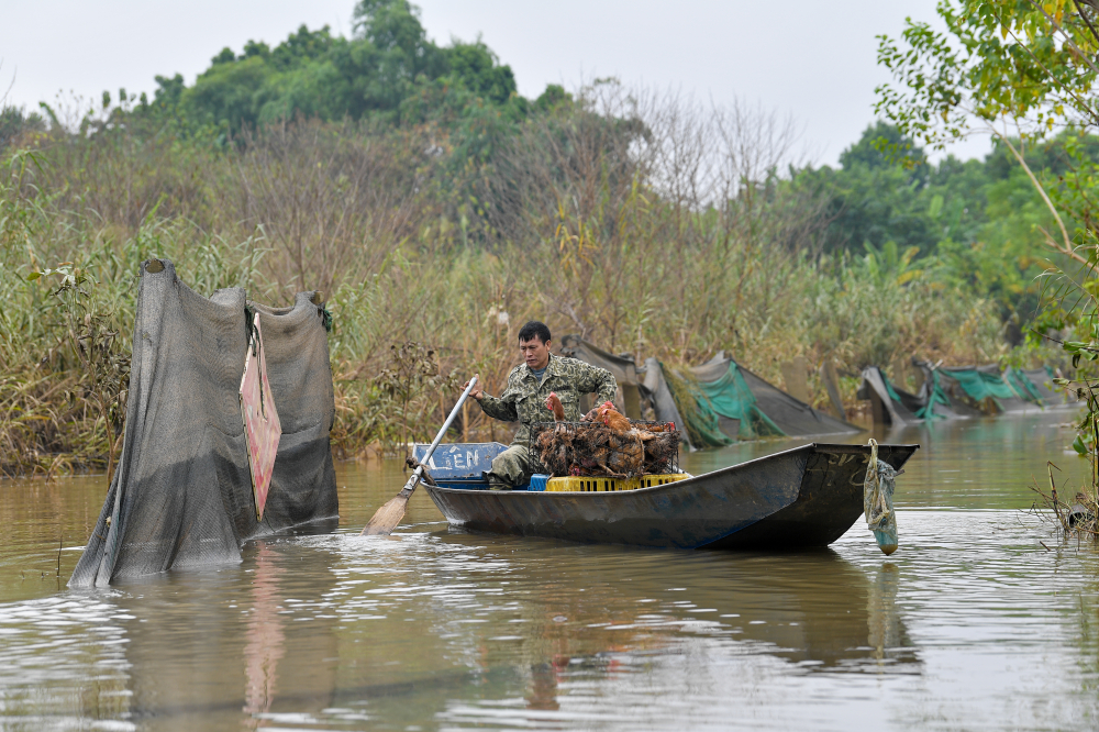
{"label": "yellow-green leafy branches overhanging the top right corner", "polygon": [[1094,120],[1086,104],[1099,42],[1068,0],[941,0],[946,31],[908,21],[902,43],[881,35],[877,110],[935,147],[964,137],[975,121],[1026,123],[1041,136],[1059,122]]}

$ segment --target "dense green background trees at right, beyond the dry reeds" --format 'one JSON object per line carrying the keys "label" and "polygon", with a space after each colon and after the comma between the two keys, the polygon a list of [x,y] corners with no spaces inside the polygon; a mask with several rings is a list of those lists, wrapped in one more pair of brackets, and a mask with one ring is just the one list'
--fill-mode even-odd
{"label": "dense green background trees at right, beyond the dry reeds", "polygon": [[[1022,149],[1033,170],[1055,180],[1072,175],[1069,152],[1099,159],[1097,142],[1058,135]],[[907,257],[904,281],[925,278],[988,298],[1018,343],[1037,314],[1048,256],[1043,232],[1056,222],[1008,146],[995,145],[984,160],[947,156],[933,165],[899,127],[879,122],[841,162],[795,178],[828,191],[823,251],[866,253],[870,271]]]}

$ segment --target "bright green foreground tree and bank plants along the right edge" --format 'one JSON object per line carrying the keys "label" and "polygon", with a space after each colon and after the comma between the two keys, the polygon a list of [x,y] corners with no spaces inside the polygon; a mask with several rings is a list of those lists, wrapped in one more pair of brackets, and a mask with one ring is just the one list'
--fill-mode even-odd
{"label": "bright green foreground tree and bank plants along the right edge", "polygon": [[[1058,381],[1086,403],[1073,447],[1091,462],[1087,485],[1058,489],[1051,469],[1048,488],[1035,490],[1064,532],[1097,537],[1099,10],[1067,0],[942,0],[937,13],[945,31],[909,21],[899,41],[881,36],[878,59],[893,84],[878,89],[878,110],[940,148],[975,130],[991,134],[1013,159],[1012,175],[1031,184],[1032,236],[1055,255],[1041,320],[1064,334],[1075,374]],[[1051,145],[1062,162],[1037,165],[1033,151]]]}

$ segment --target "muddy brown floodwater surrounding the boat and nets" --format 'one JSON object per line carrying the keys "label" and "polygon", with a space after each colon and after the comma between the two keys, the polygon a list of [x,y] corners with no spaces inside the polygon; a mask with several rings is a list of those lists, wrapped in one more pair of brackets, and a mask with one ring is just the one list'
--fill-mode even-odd
{"label": "muddy brown floodwater surrounding the boat and nets", "polygon": [[1074,417],[879,434],[922,445],[890,557],[862,523],[799,554],[476,535],[422,491],[363,539],[404,476],[345,463],[336,533],[70,591],[104,480],[2,481],[0,729],[1094,730],[1099,553],[1026,511],[1047,461],[1086,474]]}

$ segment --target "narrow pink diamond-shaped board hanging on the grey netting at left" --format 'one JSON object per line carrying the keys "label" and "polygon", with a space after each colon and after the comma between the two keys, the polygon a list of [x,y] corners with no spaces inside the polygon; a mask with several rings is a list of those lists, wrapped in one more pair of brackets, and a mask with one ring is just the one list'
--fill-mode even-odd
{"label": "narrow pink diamond-shaped board hanging on the grey netting at left", "polygon": [[244,418],[244,436],[248,445],[248,467],[252,468],[252,492],[256,497],[256,519],[263,521],[267,491],[275,468],[275,453],[282,436],[271,385],[267,380],[267,355],[264,352],[259,313],[255,314],[255,331],[244,359],[241,379],[241,415]]}

